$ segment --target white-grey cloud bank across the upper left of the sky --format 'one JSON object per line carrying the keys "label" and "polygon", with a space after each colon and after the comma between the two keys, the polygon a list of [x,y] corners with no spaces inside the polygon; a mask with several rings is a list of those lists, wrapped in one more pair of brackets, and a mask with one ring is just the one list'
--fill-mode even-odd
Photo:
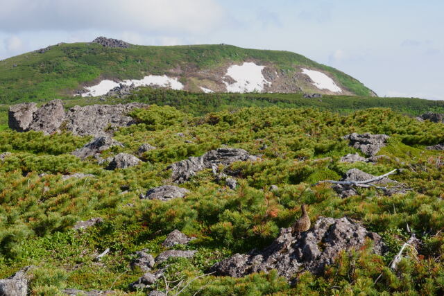
{"label": "white-grey cloud bank across the upper left of the sky", "polygon": [[224,15],[214,0],[14,0],[1,3],[0,30],[207,33]]}

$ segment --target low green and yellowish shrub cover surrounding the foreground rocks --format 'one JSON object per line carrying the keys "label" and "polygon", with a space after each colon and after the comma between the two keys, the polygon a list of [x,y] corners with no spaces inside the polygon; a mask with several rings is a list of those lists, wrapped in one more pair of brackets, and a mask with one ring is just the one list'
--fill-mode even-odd
{"label": "low green and yellowish shrub cover surrounding the foreground rocks", "polygon": [[[207,275],[192,281],[182,295],[444,293],[444,159],[442,153],[425,149],[444,141],[443,124],[421,123],[383,108],[343,115],[312,108],[250,107],[196,116],[154,105],[132,116],[139,123],[114,135],[125,147],[105,155],[134,154],[142,143],[157,149],[144,153],[144,164],[116,171],[69,155],[87,137],[0,132],[0,151],[12,153],[0,162],[0,278],[33,264],[33,295],[56,295],[61,288],[135,293],[128,284],[143,272],[130,269],[133,254],[145,248],[159,254],[166,235],[180,229],[197,239],[176,248],[198,250],[197,255],[161,266],[167,266],[168,281],[189,281],[234,252],[264,247],[280,227],[298,218],[300,204],[306,203],[312,221],[318,216],[353,218],[379,233],[389,252],[372,254],[371,245],[343,252],[324,275],[301,272],[293,286],[275,272],[241,279]],[[390,135],[388,146],[379,152],[388,159],[340,163],[341,156],[356,152],[342,139],[350,132]],[[168,184],[166,168],[171,163],[222,145],[262,155],[258,162],[231,165],[237,172],[236,190],[215,182],[207,170],[182,185],[191,191],[186,198],[139,199],[139,193]],[[400,168],[393,179],[412,190],[388,197],[361,189],[359,195],[341,199],[329,184],[313,185],[339,180],[354,167],[374,175]],[[77,172],[96,177],[62,180],[62,174]],[[272,184],[278,191],[269,191]],[[83,231],[71,229],[77,220],[93,217],[104,222]],[[406,256],[393,271],[388,263],[409,238],[407,224],[423,245],[419,255]],[[94,261],[107,247],[110,253]],[[162,290],[164,283],[161,279],[155,286]]]}

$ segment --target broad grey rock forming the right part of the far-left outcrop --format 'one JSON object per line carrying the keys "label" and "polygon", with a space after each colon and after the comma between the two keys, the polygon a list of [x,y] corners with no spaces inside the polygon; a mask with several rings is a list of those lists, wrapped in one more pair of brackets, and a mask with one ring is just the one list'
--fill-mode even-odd
{"label": "broad grey rock forming the right part of the far-left outcrop", "polygon": [[65,129],[78,136],[103,137],[117,128],[135,124],[127,114],[148,106],[142,103],[74,106],[66,114]]}

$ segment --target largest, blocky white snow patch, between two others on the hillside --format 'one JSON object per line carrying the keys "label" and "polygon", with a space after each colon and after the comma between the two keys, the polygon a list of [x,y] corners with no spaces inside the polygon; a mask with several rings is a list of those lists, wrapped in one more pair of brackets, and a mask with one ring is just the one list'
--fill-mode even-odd
{"label": "largest, blocky white snow patch, between two others on the hillside", "polygon": [[236,82],[229,84],[223,81],[227,87],[227,92],[262,92],[264,85],[271,85],[262,75],[265,66],[258,66],[254,62],[244,62],[241,66],[233,65],[228,68],[225,76],[230,76]]}

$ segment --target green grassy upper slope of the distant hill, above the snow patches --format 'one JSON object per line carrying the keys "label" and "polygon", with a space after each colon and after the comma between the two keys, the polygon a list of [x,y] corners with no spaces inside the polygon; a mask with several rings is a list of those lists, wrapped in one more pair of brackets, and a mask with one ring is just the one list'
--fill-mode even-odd
{"label": "green grassy upper slope of the distant hill, above the snow patches", "polygon": [[[0,61],[0,103],[65,98],[99,78],[140,79],[181,69],[214,69],[225,63],[259,60],[291,73],[314,67],[330,73],[349,92],[372,94],[355,78],[297,53],[241,49],[230,45],[130,46],[108,48],[94,43],[58,44],[44,53],[25,53]],[[179,74],[180,75],[180,74]],[[181,78],[187,79],[185,77]]]}

